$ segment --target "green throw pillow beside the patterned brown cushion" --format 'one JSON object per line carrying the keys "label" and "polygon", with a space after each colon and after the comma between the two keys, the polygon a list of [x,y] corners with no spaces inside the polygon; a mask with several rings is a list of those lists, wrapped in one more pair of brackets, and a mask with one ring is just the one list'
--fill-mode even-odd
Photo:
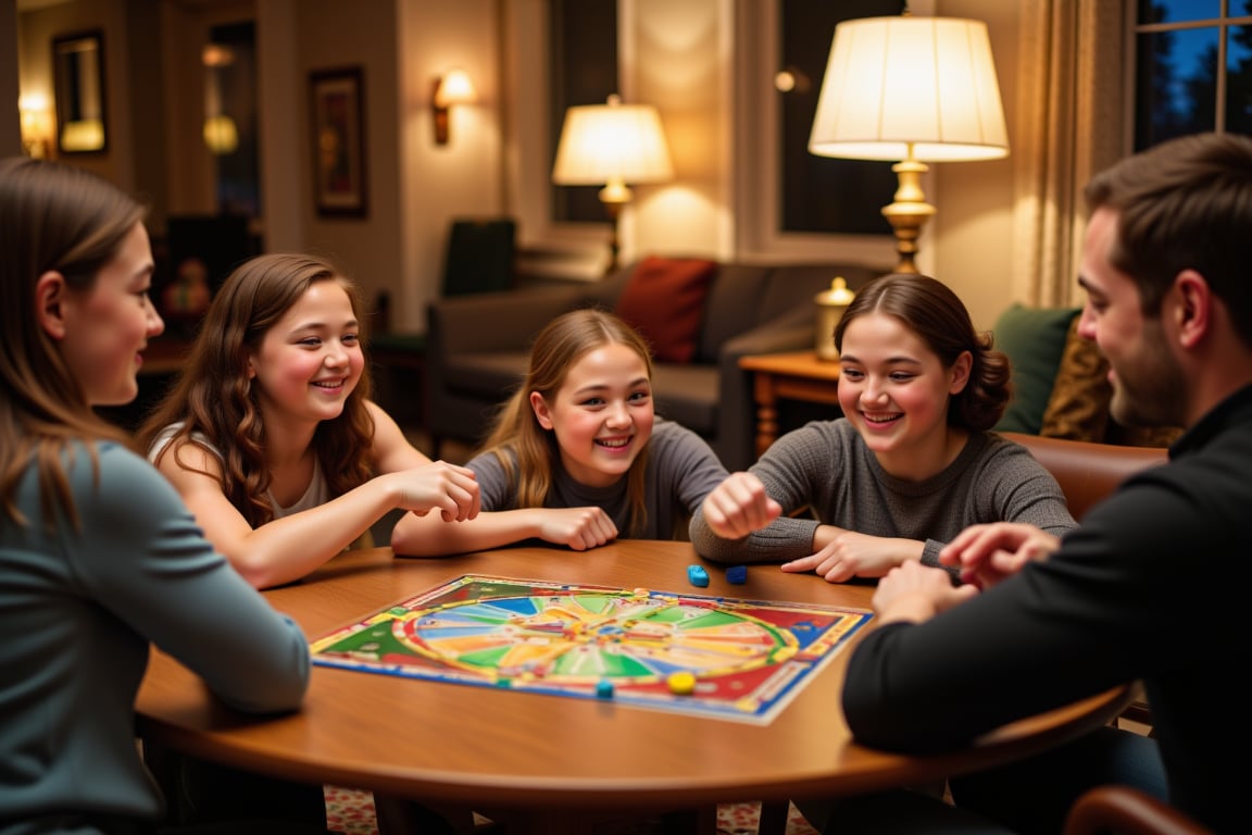
{"label": "green throw pillow beside the patterned brown cushion", "polygon": [[1028,308],[1014,302],[995,320],[995,348],[1013,363],[1013,399],[997,432],[1039,434],[1043,413],[1079,308]]}

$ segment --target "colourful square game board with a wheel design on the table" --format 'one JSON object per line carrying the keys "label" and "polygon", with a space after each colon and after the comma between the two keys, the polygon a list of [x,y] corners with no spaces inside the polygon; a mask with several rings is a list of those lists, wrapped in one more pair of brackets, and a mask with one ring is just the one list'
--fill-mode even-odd
{"label": "colourful square game board with a wheel design on the table", "polygon": [[[313,662],[769,724],[864,610],[466,575],[316,641]],[[695,686],[682,692],[686,679]]]}

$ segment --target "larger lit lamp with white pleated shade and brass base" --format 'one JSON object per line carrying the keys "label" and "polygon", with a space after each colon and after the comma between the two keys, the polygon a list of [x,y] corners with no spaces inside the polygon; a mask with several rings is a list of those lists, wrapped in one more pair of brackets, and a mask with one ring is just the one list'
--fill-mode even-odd
{"label": "larger lit lamp with white pleated shade and brass base", "polygon": [[835,26],[809,151],[900,160],[883,214],[895,229],[896,272],[918,272],[916,240],[935,213],[921,192],[925,163],[1009,153],[987,24],[905,13]]}

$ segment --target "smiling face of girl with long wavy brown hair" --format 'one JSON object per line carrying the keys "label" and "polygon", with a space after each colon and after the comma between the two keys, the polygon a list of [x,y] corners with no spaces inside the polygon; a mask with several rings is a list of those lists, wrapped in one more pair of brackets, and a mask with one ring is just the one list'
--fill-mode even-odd
{"label": "smiling face of girl with long wavy brown hair", "polygon": [[343,412],[364,367],[348,293],[338,282],[318,280],[265,333],[248,358],[248,377],[267,424],[317,423]]}

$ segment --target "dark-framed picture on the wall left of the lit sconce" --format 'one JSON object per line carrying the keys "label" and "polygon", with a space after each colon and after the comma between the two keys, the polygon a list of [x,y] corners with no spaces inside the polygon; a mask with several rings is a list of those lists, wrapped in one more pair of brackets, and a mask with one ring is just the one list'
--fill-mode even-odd
{"label": "dark-framed picture on the wall left of the lit sconce", "polygon": [[313,202],[323,217],[367,214],[366,89],[359,66],[309,73]]}

